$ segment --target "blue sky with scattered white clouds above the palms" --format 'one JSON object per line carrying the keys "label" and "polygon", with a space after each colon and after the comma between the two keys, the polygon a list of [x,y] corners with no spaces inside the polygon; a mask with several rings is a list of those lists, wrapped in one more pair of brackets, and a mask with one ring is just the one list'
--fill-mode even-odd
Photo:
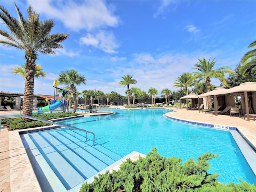
{"label": "blue sky with scattered white clouds above the palms", "polygon": [[[61,70],[73,68],[86,77],[78,91],[116,91],[122,76],[138,81],[131,85],[148,92],[172,91],[182,72],[194,72],[198,59],[212,56],[216,68],[238,64],[256,39],[256,1],[16,1],[23,16],[28,5],[40,20],[53,19],[52,32],[68,32],[64,48],[56,55],[40,55],[47,74],[36,79],[34,94],[54,94],[53,81]],[[17,18],[13,1],[1,5]],[[1,28],[4,25],[1,22]],[[25,62],[24,51],[0,45],[0,90],[24,92],[24,80],[10,68]],[[228,77],[228,74],[227,76]],[[220,82],[212,79],[216,86]],[[64,86],[64,85],[60,85]]]}

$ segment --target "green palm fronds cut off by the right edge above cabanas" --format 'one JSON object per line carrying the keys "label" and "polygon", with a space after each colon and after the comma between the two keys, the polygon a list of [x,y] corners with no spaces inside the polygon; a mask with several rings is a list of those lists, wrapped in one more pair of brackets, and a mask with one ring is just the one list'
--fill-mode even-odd
{"label": "green palm fronds cut off by the right edge above cabanas", "polygon": [[[247,48],[255,47],[256,40],[252,42]],[[241,59],[242,66],[239,69],[240,74],[244,77],[249,76],[253,69],[256,69],[256,49],[248,51]]]}

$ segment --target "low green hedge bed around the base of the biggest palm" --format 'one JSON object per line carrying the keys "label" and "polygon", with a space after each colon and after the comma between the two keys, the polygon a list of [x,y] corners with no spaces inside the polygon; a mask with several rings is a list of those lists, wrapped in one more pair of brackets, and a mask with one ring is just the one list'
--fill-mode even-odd
{"label": "low green hedge bed around the base of the biggest palm", "polygon": [[[50,120],[50,119],[58,119],[58,118],[76,116],[76,115],[79,115],[79,114],[71,113],[71,112],[62,112],[62,113],[50,113],[50,114],[33,114],[33,117],[44,119],[44,120]],[[7,124],[10,130],[27,129],[27,128],[52,125],[49,123],[36,121],[36,120],[32,120],[30,122],[23,122],[22,118],[2,119],[2,124]]]}

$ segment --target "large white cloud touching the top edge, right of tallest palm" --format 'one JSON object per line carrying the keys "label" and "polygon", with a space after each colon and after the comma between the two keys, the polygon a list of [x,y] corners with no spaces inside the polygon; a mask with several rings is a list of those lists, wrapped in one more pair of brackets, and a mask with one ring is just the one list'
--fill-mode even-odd
{"label": "large white cloud touching the top edge, right of tallest palm", "polygon": [[[28,1],[37,12],[57,18],[74,31],[117,26],[114,16],[103,1]],[[54,6],[58,4],[58,6]],[[58,7],[58,8],[57,8]]]}

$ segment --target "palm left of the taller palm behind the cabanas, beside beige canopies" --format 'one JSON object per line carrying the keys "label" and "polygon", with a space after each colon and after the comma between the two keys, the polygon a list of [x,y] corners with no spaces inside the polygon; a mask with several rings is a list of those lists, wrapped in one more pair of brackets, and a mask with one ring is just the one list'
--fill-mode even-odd
{"label": "palm left of the taller palm behind the cabanas, beside beige canopies", "polygon": [[[186,95],[188,95],[188,87],[191,87],[194,84],[194,77],[192,76],[192,73],[184,72],[175,81],[173,86],[185,88]],[[188,98],[186,98],[186,104],[188,106]]]}

